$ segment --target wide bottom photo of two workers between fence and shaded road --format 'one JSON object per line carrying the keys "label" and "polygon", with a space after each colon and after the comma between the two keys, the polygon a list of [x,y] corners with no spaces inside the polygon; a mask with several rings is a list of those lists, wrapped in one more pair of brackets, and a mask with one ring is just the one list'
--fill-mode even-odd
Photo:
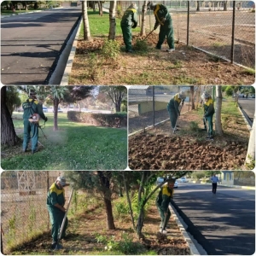
{"label": "wide bottom photo of two workers between fence and shaded road", "polygon": [[254,251],[252,171],[1,173],[4,255]]}

